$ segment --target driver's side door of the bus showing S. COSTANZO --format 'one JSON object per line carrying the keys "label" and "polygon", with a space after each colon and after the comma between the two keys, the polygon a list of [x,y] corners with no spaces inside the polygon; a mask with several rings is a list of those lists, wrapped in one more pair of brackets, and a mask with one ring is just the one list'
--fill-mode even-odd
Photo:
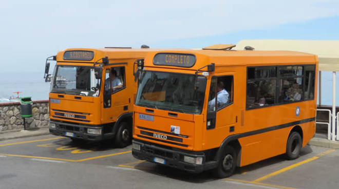
{"label": "driver's side door of the bus showing S. COSTANZO", "polygon": [[104,84],[104,103],[102,120],[115,122],[128,111],[128,93],[126,90],[126,72],[123,64],[106,68]]}

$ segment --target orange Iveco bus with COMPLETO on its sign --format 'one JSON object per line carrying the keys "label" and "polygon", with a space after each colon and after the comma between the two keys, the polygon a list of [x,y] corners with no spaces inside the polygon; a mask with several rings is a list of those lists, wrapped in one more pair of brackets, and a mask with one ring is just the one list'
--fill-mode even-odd
{"label": "orange Iveco bus with COMPLETO on its sign", "polygon": [[315,133],[317,56],[232,47],[146,56],[134,157],[223,178],[273,156],[299,156]]}

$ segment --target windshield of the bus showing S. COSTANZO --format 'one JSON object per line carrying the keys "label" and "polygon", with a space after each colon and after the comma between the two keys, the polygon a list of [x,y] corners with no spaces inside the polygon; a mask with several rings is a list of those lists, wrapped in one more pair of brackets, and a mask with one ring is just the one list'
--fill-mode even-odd
{"label": "windshield of the bus showing S. COSTANZO", "polygon": [[96,78],[96,72],[101,73],[100,69],[89,66],[56,66],[50,91],[98,97],[101,79]]}

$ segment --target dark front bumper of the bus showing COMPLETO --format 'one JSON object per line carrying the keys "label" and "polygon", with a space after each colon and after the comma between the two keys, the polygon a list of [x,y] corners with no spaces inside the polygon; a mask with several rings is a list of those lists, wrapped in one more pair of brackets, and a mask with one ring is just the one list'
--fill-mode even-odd
{"label": "dark front bumper of the bus showing COMPLETO", "polygon": [[[193,154],[190,153],[190,151],[180,152],[177,150],[167,149],[152,144],[146,144],[139,140],[133,140],[132,145],[132,154],[135,158],[178,168],[186,172],[201,173],[208,169],[213,169],[217,167],[216,161],[205,162],[205,156],[203,153]],[[135,149],[135,145],[140,145],[140,150]],[[192,158],[202,158],[202,163],[187,163],[184,161],[184,156]]]}

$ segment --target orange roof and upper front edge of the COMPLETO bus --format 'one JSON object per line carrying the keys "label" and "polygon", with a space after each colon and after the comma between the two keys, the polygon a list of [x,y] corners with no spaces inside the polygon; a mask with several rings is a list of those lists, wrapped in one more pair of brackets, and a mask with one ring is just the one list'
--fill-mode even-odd
{"label": "orange roof and upper front edge of the COMPLETO bus", "polygon": [[317,56],[310,53],[296,51],[257,51],[257,50],[161,50],[147,54],[145,66],[168,67],[176,66],[154,65],[154,58],[157,54],[194,54],[196,62],[191,67],[181,67],[182,69],[197,70],[203,66],[215,63],[215,66],[257,66],[272,64],[314,64]]}

